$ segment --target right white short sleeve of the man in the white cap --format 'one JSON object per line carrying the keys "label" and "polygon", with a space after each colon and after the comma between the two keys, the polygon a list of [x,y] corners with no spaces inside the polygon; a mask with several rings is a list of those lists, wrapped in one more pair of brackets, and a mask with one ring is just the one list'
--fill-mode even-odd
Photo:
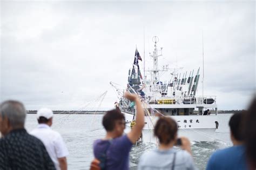
{"label": "right white short sleeve of the man in the white cap", "polygon": [[57,158],[62,158],[69,155],[68,148],[66,148],[66,145],[62,139],[62,136],[59,133],[55,140],[55,152],[56,152]]}

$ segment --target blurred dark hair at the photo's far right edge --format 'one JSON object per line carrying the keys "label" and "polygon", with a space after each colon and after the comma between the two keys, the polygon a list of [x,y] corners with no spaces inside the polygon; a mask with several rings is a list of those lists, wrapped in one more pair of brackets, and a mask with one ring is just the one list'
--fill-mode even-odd
{"label": "blurred dark hair at the photo's far right edge", "polygon": [[[255,94],[254,94],[255,95]],[[245,147],[252,169],[256,168],[256,97],[248,109],[245,119]]]}

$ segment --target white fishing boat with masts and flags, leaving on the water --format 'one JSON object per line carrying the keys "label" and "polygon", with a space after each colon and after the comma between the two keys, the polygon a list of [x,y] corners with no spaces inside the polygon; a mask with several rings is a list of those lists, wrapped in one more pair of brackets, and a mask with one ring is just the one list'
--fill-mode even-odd
{"label": "white fishing boat with masts and flags, leaving on the water", "polygon": [[200,67],[196,72],[180,72],[180,68],[169,69],[169,65],[159,69],[158,58],[162,56],[163,48],[158,50],[158,40],[158,37],[153,37],[154,50],[150,53],[153,67],[145,70],[144,64],[144,77],[139,68],[139,60],[142,60],[142,57],[136,47],[127,86],[122,89],[118,84],[110,82],[117,92],[118,107],[128,122],[126,126],[133,126],[136,118],[134,103],[123,97],[125,91],[130,91],[137,93],[142,99],[145,112],[142,135],[144,142],[157,142],[153,129],[159,115],[177,121],[179,136],[186,136],[192,141],[213,140],[212,134],[219,126],[216,96],[197,95]]}

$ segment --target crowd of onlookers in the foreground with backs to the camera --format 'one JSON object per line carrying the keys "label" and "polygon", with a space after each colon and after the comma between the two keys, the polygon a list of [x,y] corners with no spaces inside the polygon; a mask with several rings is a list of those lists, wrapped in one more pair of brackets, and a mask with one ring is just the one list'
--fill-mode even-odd
{"label": "crowd of onlookers in the foreground with backs to the camera", "polygon": [[[144,110],[136,94],[125,93],[136,106],[135,124],[124,134],[125,117],[119,109],[107,111],[102,124],[105,137],[93,143],[90,169],[129,169],[129,154],[144,127]],[[233,146],[214,152],[206,169],[256,169],[256,98],[247,111],[232,115],[230,126]],[[37,111],[38,126],[28,133],[24,128],[26,110],[19,101],[0,105],[0,169],[68,169],[69,152],[61,135],[51,129],[53,112]],[[159,117],[154,135],[159,146],[139,159],[139,170],[197,169],[192,158],[190,140],[178,137],[178,125],[170,117]],[[177,149],[174,146],[179,146]]]}

